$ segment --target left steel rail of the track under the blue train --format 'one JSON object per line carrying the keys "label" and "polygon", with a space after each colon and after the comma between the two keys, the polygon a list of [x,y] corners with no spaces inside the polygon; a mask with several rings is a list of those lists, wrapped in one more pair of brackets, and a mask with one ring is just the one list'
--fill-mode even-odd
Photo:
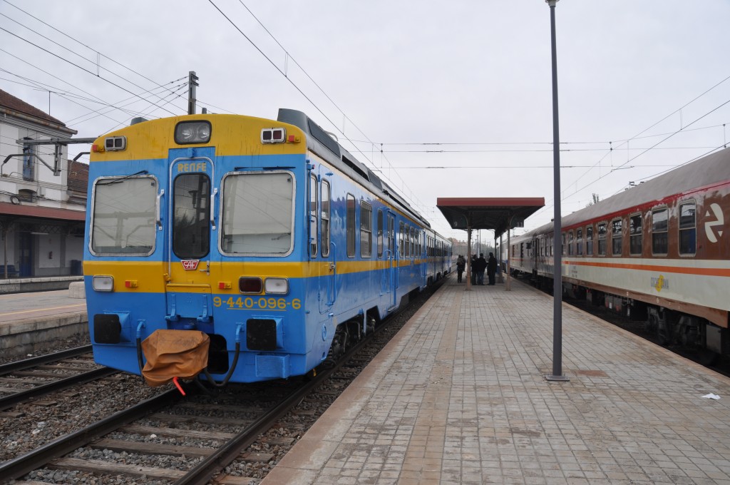
{"label": "left steel rail of the track under the blue train", "polygon": [[20,457],[4,462],[0,465],[1,483],[7,483],[7,481],[20,478],[28,472],[47,465],[52,459],[70,453],[80,446],[85,446],[91,440],[106,435],[123,426],[123,424],[140,419],[152,410],[178,399],[180,399],[180,392],[174,388],[170,389],[148,400],[139,402],[139,404],[131,408],[121,410],[118,413],[112,414],[112,416],[101,419],[101,421],[96,421],[96,423],[79,429],[76,432],[61,436],[34,451],[29,451]]}

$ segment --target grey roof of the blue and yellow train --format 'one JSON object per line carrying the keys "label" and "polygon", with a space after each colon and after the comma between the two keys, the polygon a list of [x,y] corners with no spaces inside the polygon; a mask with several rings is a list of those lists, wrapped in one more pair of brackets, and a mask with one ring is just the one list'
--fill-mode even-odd
{"label": "grey roof of the blue and yellow train", "polygon": [[331,134],[324,131],[321,126],[312,121],[303,112],[280,108],[277,121],[289,123],[304,131],[307,134],[307,148],[342,170],[342,172],[345,172],[353,180],[357,180],[359,183],[368,187],[375,194],[379,194],[383,199],[390,200],[393,205],[400,207],[404,212],[408,213],[424,226],[431,227],[429,221],[426,221],[426,218],[423,218],[420,213],[410,207],[391,186],[385,183],[385,180],[375,175],[371,169],[358,161],[345,148],[342,148],[342,145],[339,145]]}

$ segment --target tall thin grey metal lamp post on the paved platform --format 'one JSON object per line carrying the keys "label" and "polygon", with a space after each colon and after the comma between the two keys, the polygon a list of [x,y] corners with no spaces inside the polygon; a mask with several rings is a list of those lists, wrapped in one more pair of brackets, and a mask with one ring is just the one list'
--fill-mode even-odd
{"label": "tall thin grey metal lamp post on the paved platform", "polygon": [[555,5],[558,0],[545,0],[550,7],[550,40],[553,50],[553,374],[548,381],[569,381],[563,375],[563,243],[560,223],[560,132],[558,130],[558,57],[555,37]]}

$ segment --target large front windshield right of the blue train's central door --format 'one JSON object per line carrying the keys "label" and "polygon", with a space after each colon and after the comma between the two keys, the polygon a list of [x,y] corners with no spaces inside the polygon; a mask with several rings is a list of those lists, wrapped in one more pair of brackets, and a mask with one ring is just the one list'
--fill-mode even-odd
{"label": "large front windshield right of the blue train's central door", "polygon": [[285,255],[293,243],[290,172],[228,175],[223,182],[221,249],[229,254]]}

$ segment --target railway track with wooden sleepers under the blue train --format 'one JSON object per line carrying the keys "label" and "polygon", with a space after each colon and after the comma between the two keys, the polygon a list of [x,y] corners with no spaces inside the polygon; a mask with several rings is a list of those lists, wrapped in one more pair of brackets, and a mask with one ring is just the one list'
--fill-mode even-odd
{"label": "railway track with wooden sleepers under the blue train", "polygon": [[85,474],[101,483],[258,483],[418,306],[309,378],[208,392],[189,384],[185,397],[171,389],[0,462],[0,483],[76,483]]}

